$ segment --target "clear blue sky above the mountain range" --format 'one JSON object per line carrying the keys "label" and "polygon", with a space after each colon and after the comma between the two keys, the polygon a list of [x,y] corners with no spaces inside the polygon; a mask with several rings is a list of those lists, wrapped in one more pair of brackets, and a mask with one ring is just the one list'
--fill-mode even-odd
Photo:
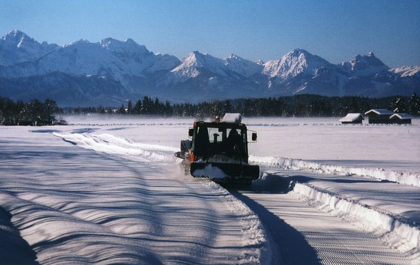
{"label": "clear blue sky above the mountain range", "polygon": [[337,64],[373,51],[390,67],[420,65],[420,1],[27,1],[0,0],[0,35],[39,42],[134,39],[182,59],[277,60],[303,48]]}

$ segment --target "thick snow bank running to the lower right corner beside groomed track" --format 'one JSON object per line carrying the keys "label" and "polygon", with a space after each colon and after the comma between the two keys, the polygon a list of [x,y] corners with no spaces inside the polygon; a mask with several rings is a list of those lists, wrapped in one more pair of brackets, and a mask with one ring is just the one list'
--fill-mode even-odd
{"label": "thick snow bank running to the lower right corner beside groomed track", "polygon": [[403,220],[367,205],[338,197],[310,185],[296,183],[296,194],[333,215],[352,221],[366,232],[379,235],[383,241],[401,253],[409,255],[413,264],[420,264],[420,229]]}

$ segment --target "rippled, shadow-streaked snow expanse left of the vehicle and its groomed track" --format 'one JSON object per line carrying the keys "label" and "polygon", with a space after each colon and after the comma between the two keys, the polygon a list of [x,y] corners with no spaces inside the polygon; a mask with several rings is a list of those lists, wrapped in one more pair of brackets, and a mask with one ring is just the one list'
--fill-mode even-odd
{"label": "rippled, shadow-streaked snow expanse left of the vehicle and its groomed track", "polygon": [[76,128],[0,128],[0,207],[10,214],[1,221],[11,223],[0,229],[28,245],[5,253],[12,263],[260,264],[268,255],[258,217],[186,175],[171,147]]}

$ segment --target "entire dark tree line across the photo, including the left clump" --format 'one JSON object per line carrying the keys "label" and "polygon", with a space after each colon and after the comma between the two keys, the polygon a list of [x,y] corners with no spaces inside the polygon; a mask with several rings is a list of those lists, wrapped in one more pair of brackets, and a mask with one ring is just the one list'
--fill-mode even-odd
{"label": "entire dark tree line across the photo, including the left clump", "polygon": [[135,104],[128,100],[117,109],[105,107],[77,107],[61,109],[54,100],[14,102],[0,97],[0,125],[54,125],[65,124],[55,119],[55,113],[120,113],[133,115],[158,115],[167,117],[205,118],[227,112],[251,116],[322,117],[345,116],[347,113],[365,113],[370,109],[390,109],[395,113],[420,116],[420,98],[410,97],[363,98],[359,96],[327,97],[323,95],[294,95],[278,98],[250,98],[214,100],[200,103],[171,104],[168,100],[145,96]]}

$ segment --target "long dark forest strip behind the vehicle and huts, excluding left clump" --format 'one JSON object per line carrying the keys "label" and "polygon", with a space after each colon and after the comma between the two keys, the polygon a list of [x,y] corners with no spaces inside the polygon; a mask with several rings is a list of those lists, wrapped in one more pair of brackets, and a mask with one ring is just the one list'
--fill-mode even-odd
{"label": "long dark forest strip behind the vehicle and huts, excluding left clump", "polygon": [[242,113],[244,116],[322,117],[345,116],[347,113],[365,113],[370,109],[390,109],[395,113],[420,116],[420,98],[410,97],[364,98],[359,96],[328,97],[323,95],[294,95],[279,98],[251,98],[213,100],[200,103],[171,104],[145,96],[135,104],[128,100],[119,109],[87,107],[67,109],[69,113],[121,113],[177,117],[209,117],[216,113]]}

